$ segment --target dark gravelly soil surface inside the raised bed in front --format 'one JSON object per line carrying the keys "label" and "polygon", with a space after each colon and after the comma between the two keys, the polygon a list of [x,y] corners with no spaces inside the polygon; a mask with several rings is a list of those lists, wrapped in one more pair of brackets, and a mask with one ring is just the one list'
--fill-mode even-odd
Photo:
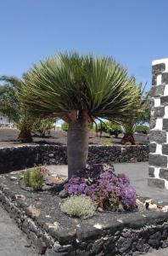
{"label": "dark gravelly soil surface inside the raised bed in front", "polygon": [[[23,199],[24,204],[27,207],[32,207],[39,212],[41,219],[48,223],[57,222],[62,228],[70,229],[71,227],[76,226],[77,224],[96,224],[104,223],[107,224],[107,220],[113,218],[115,221],[120,218],[128,218],[132,215],[138,215],[140,212],[123,212],[123,213],[113,213],[113,212],[95,212],[95,215],[92,218],[80,219],[80,218],[70,218],[60,211],[60,204],[64,202],[64,199],[47,191],[43,192],[32,192],[25,189],[22,189],[20,186],[20,175],[22,171],[11,172],[10,174],[5,174],[0,177],[1,186],[7,187],[9,190],[12,190],[14,195]],[[22,183],[23,184],[23,183]]]}

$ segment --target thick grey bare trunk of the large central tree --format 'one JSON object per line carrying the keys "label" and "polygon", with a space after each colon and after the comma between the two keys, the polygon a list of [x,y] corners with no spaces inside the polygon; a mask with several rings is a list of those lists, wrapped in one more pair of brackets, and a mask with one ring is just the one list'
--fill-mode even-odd
{"label": "thick grey bare trunk of the large central tree", "polygon": [[83,119],[69,123],[67,138],[68,178],[87,165],[88,122]]}

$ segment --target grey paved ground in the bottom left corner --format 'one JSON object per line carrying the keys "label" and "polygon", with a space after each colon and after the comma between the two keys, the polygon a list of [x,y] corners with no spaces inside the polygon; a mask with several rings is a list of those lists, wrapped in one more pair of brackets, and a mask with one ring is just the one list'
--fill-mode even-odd
{"label": "grey paved ground in the bottom left corner", "polygon": [[36,256],[25,234],[0,206],[0,256]]}

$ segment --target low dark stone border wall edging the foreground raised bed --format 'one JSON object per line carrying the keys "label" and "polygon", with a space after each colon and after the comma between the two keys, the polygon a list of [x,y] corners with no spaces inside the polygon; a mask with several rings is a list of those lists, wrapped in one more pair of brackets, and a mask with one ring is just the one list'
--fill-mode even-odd
{"label": "low dark stone border wall edging the foreground raised bed", "polygon": [[[59,229],[57,222],[48,224],[47,216],[42,218],[37,208],[27,203],[26,193],[14,193],[12,188],[19,187],[14,181],[14,176],[1,177],[0,201],[39,253],[46,256],[134,256],[147,253],[150,248],[168,247],[168,212],[132,212],[115,215],[115,218],[106,215],[99,223],[90,218],[87,222],[74,222],[69,228]],[[36,201],[34,203],[37,206]]]}

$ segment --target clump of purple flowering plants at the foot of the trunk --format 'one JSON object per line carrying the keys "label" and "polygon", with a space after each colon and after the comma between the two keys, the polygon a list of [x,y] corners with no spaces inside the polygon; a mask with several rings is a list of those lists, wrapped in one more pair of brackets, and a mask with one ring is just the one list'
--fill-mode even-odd
{"label": "clump of purple flowering plants at the foot of the trunk", "polygon": [[136,191],[124,174],[115,175],[112,166],[88,166],[64,185],[68,195],[87,196],[100,211],[129,212],[136,208]]}

